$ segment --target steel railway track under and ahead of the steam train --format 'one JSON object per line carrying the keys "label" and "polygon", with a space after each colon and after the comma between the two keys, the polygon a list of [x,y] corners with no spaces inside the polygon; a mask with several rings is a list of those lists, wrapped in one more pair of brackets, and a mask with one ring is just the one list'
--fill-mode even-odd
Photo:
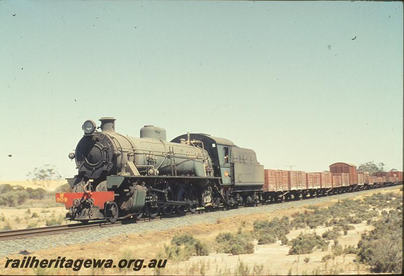
{"label": "steel railway track under and ahead of the steam train", "polygon": [[[397,184],[396,184],[397,185]],[[388,186],[382,186],[382,187],[375,187],[377,188],[383,188],[383,187],[389,187],[393,185],[388,185]],[[375,189],[372,188],[372,189]],[[351,191],[352,193],[359,192],[363,190],[358,190],[358,191]],[[320,195],[326,196],[326,195]],[[314,196],[314,197],[307,197],[307,198],[300,198],[300,199],[313,199],[319,196]],[[289,200],[284,200],[284,201],[297,201],[295,199],[289,199]],[[280,201],[274,201],[271,203],[279,203]],[[268,202],[264,203],[268,204]],[[244,206],[240,206],[240,208],[248,208]],[[200,213],[205,213],[205,212],[212,212],[212,211],[221,211],[224,210],[225,208],[217,208],[215,210],[205,210],[205,211],[197,211],[195,213],[187,213],[186,216],[195,216]],[[80,231],[84,229],[90,229],[90,228],[105,228],[105,227],[113,227],[113,226],[119,226],[123,224],[131,224],[131,223],[145,223],[148,221],[153,221],[153,220],[166,220],[166,219],[172,219],[175,217],[182,217],[185,215],[173,215],[169,217],[164,217],[161,216],[156,219],[149,219],[149,218],[142,218],[140,220],[134,221],[134,219],[130,220],[121,220],[117,221],[115,223],[109,223],[106,221],[94,221],[94,222],[88,222],[88,223],[75,223],[75,224],[67,224],[67,225],[55,225],[55,226],[46,226],[46,227],[37,227],[37,228],[28,228],[28,229],[17,229],[17,230],[7,230],[7,231],[0,231],[0,240],[11,240],[11,239],[17,239],[17,238],[27,238],[27,237],[32,237],[32,236],[44,236],[44,235],[52,235],[52,234],[60,234],[64,232],[74,232],[74,231]]]}

